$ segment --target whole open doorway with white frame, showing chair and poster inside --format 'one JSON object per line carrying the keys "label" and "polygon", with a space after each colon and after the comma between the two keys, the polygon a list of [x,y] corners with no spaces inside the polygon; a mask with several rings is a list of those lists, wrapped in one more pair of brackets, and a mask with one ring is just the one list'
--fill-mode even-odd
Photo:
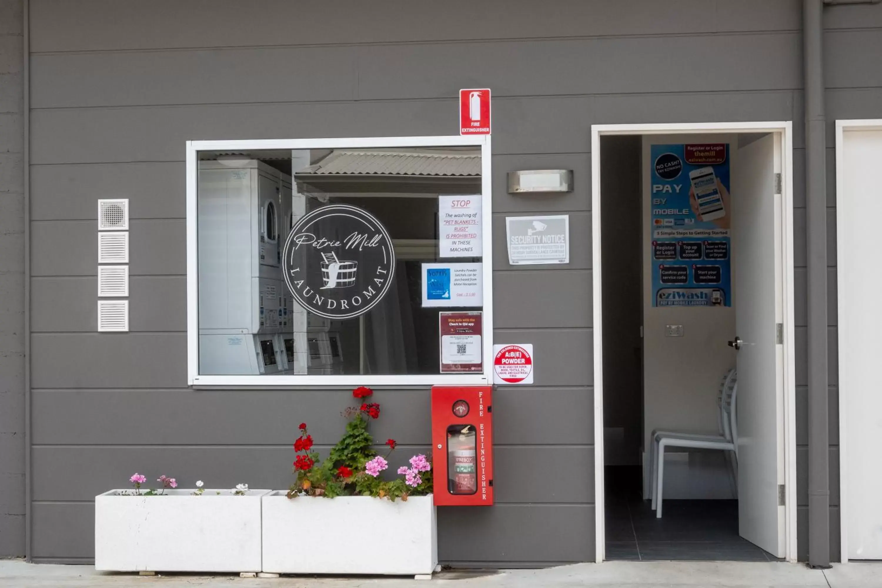
{"label": "whole open doorway with white frame, showing chair and poster inside", "polygon": [[796,558],[789,141],[593,128],[598,562]]}

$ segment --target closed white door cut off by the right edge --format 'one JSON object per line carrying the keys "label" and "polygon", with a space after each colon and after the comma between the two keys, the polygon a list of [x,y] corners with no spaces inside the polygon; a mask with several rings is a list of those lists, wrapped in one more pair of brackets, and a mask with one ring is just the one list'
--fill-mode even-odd
{"label": "closed white door cut off by the right edge", "polygon": [[849,559],[882,559],[882,292],[878,272],[882,130],[844,130],[836,171],[840,256],[839,402],[842,520]]}

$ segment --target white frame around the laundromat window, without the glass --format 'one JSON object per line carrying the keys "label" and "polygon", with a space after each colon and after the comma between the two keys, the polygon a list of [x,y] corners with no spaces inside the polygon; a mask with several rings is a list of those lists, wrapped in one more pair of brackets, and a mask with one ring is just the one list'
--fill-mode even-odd
{"label": "white frame around the laundromat window, without the glass", "polygon": [[[283,375],[283,376],[213,376],[199,374],[198,310],[198,152],[257,151],[260,149],[345,149],[383,147],[459,147],[481,148],[482,202],[482,374],[413,374],[413,375]],[[348,387],[423,385],[486,385],[493,381],[493,239],[490,136],[477,137],[366,137],[245,139],[230,141],[187,141],[187,381],[193,387],[228,388],[303,386]]]}

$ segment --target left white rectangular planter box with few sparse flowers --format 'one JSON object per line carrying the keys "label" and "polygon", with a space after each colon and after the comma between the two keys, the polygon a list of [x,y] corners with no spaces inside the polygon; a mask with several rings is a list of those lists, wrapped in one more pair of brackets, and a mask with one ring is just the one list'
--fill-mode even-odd
{"label": "left white rectangular planter box with few sparse flowers", "polygon": [[[217,495],[217,492],[221,495]],[[95,496],[95,569],[260,571],[260,499],[269,490]]]}

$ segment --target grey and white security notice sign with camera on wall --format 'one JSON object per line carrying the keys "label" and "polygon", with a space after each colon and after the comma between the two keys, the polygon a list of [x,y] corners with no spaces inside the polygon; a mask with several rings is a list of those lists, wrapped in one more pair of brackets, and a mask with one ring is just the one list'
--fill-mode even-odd
{"label": "grey and white security notice sign with camera on wall", "polygon": [[506,217],[508,263],[569,264],[570,216]]}

